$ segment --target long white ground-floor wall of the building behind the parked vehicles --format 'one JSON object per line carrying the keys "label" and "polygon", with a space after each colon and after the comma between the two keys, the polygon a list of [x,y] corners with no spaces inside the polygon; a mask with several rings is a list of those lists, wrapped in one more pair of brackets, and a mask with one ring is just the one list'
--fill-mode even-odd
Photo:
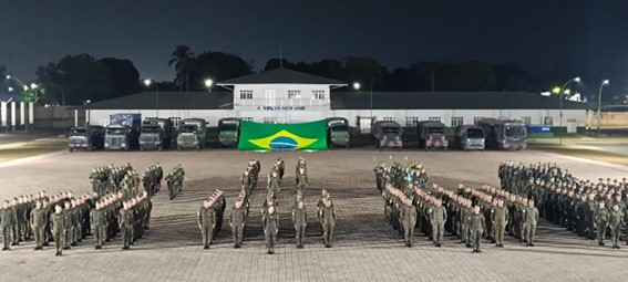
{"label": "long white ground-floor wall of the building behind the parked vehicles", "polygon": [[[142,114],[142,118],[157,117],[155,109],[119,109],[119,111],[90,111],[91,124],[109,124],[111,114],[130,113]],[[222,117],[241,117],[255,122],[276,122],[276,123],[299,123],[317,121],[326,117],[344,117],[349,119],[351,126],[356,126],[356,119],[361,117],[361,127],[368,129],[370,126],[370,109],[299,109],[299,111],[268,111],[268,109],[214,109],[214,111],[191,111],[191,109],[159,109],[158,117],[171,117],[175,121],[189,117],[205,118],[209,126],[216,126]],[[374,109],[372,116],[378,121],[392,119],[402,126],[411,126],[418,121],[439,119],[446,126],[455,126],[452,121],[461,124],[473,124],[475,119],[484,117],[511,118],[525,121],[526,123],[538,125],[547,124],[559,125],[559,109]],[[586,126],[587,112],[585,109],[564,109],[563,126],[569,133],[575,133],[576,127]],[[176,123],[176,122],[175,122]]]}

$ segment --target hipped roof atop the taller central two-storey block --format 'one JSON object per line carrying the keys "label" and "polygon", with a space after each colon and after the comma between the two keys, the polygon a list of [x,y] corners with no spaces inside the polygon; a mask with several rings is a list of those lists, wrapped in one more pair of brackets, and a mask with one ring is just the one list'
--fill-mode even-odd
{"label": "hipped roof atop the taller central two-storey block", "polygon": [[217,85],[235,84],[327,84],[347,85],[347,83],[312,74],[301,73],[288,69],[276,69],[261,73],[254,73],[228,81],[219,82]]}

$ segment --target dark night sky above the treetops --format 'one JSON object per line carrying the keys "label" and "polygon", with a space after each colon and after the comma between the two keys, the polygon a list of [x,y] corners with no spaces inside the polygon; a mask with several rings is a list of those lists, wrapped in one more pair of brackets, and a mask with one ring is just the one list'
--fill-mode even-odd
{"label": "dark night sky above the treetops", "polygon": [[[625,0],[0,0],[0,63],[34,79],[66,54],[131,59],[142,77],[172,80],[174,46],[225,51],[256,69],[372,55],[390,70],[450,55],[522,63],[566,61],[590,85],[628,90]],[[597,86],[591,86],[597,88]]]}

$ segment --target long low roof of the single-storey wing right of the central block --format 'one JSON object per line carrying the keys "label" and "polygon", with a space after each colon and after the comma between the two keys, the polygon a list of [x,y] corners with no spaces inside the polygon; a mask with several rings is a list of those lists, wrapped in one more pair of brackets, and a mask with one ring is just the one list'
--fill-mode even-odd
{"label": "long low roof of the single-storey wing right of the central block", "polygon": [[[373,109],[557,109],[558,97],[532,92],[373,92]],[[595,105],[564,101],[565,109]],[[370,92],[332,92],[332,109],[370,109]]]}

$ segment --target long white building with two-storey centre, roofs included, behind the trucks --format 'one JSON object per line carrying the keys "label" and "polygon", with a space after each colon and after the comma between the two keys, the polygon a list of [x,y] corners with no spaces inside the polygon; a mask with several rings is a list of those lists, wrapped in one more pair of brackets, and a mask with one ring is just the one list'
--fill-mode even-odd
{"label": "long white building with two-storey centre, roofs included, behind the trucks", "polygon": [[199,117],[216,126],[219,118],[240,117],[260,123],[299,123],[344,117],[354,126],[360,118],[369,130],[371,116],[412,126],[440,121],[447,126],[473,124],[484,117],[511,118],[527,124],[563,126],[569,133],[585,127],[588,104],[560,101],[527,92],[370,92],[347,83],[286,69],[220,82],[210,92],[142,92],[89,104],[87,122],[109,124],[111,114],[146,117]]}

